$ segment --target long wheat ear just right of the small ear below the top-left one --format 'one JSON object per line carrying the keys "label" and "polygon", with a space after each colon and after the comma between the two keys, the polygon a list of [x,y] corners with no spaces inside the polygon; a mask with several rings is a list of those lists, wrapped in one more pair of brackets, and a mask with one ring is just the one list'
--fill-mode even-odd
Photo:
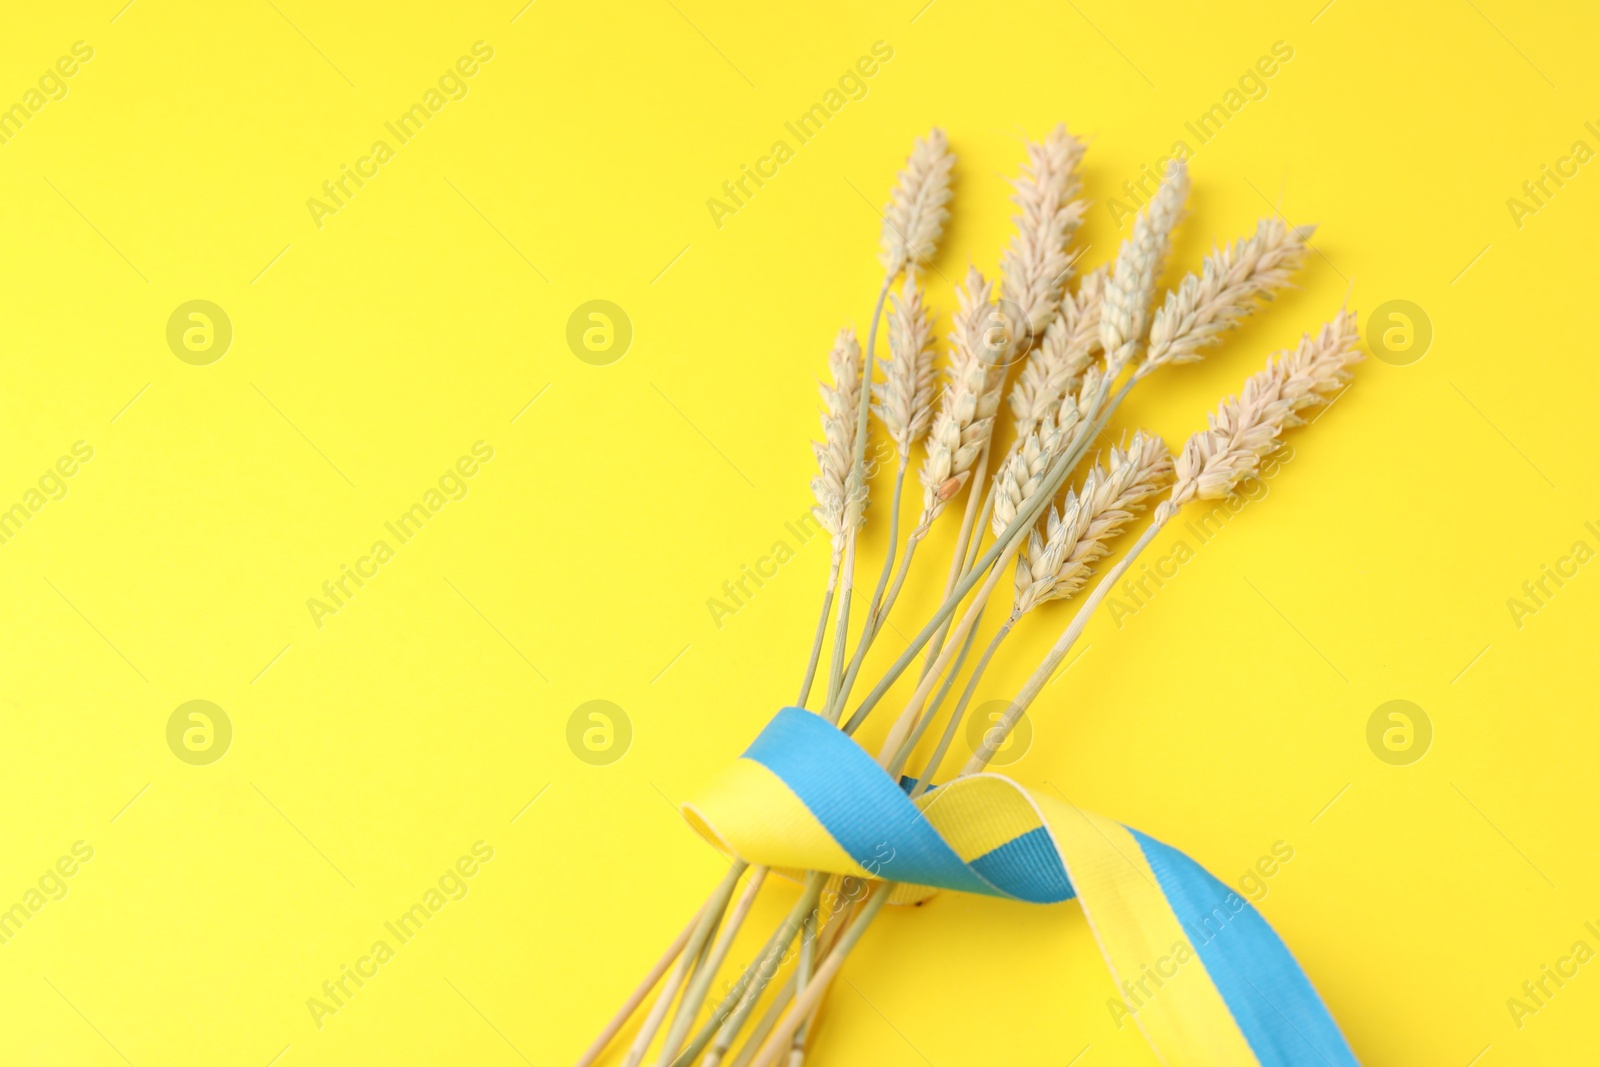
{"label": "long wheat ear just right of the small ear below the top-left one", "polygon": [[928,432],[928,458],[918,478],[923,485],[923,525],[944,510],[973,474],[973,464],[994,429],[1000,406],[998,374],[982,355],[979,331],[989,314],[994,283],[968,267],[955,291],[955,323],[950,330],[949,381]]}

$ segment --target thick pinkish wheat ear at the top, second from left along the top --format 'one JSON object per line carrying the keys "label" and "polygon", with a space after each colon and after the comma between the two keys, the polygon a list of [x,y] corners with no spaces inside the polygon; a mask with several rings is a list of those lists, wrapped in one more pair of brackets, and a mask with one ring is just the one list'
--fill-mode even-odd
{"label": "thick pinkish wheat ear at the top, second from left along the top", "polygon": [[1000,254],[1000,296],[1022,310],[1030,336],[1050,325],[1072,269],[1067,245],[1083,221],[1083,202],[1072,198],[1082,186],[1082,158],[1083,142],[1058,125],[1027,146],[1022,176],[1013,182],[1016,237]]}

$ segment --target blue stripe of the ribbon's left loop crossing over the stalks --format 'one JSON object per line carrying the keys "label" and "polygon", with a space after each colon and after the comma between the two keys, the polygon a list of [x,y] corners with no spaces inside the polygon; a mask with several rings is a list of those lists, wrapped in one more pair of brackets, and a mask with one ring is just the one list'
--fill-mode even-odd
{"label": "blue stripe of the ribbon's left loop crossing over the stalks", "polygon": [[786,707],[750,742],[744,758],[781,777],[850,857],[875,877],[1010,896],[963,864],[894,779],[819,715]]}

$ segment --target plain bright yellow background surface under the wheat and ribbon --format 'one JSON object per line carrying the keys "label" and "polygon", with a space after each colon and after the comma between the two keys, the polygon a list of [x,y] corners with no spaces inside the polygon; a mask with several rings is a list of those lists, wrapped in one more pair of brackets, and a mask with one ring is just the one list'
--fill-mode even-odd
{"label": "plain bright yellow background surface under the wheat and ribbon", "polygon": [[[1299,288],[1117,430],[1176,443],[1346,293],[1432,342],[1368,360],[1264,498],[1157,542],[1192,558],[1096,621],[1006,773],[1226,881],[1272,867],[1251,891],[1366,1064],[1594,1056],[1592,10],[122,2],[0,16],[0,1061],[576,1059],[722,870],[677,801],[794,699],[813,382],[866,326],[894,170],[949,131],[947,312],[1058,120],[1091,142],[1086,264],[1176,139],[1168,282],[1264,213],[1320,224]],[[190,301],[221,358],[214,310],[170,344]],[[570,347],[589,301],[624,310],[619,360]],[[1389,701],[1421,760],[1374,755],[1387,718],[1368,745]],[[626,757],[579,760],[605,721]],[[819,1067],[1154,1062],[1074,905],[893,909],[845,979]]]}

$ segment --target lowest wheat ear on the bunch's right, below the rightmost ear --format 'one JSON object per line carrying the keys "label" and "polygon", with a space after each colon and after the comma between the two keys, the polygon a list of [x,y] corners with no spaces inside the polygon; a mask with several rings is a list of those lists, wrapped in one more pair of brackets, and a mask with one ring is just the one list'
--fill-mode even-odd
{"label": "lowest wheat ear on the bunch's right, below the rightmost ear", "polygon": [[1018,557],[1013,617],[1048,601],[1072,597],[1110,550],[1110,541],[1171,477],[1173,458],[1158,437],[1133,435],[1114,448],[1109,467],[1096,467],[1062,509],[1050,509],[1045,533],[1029,533]]}

